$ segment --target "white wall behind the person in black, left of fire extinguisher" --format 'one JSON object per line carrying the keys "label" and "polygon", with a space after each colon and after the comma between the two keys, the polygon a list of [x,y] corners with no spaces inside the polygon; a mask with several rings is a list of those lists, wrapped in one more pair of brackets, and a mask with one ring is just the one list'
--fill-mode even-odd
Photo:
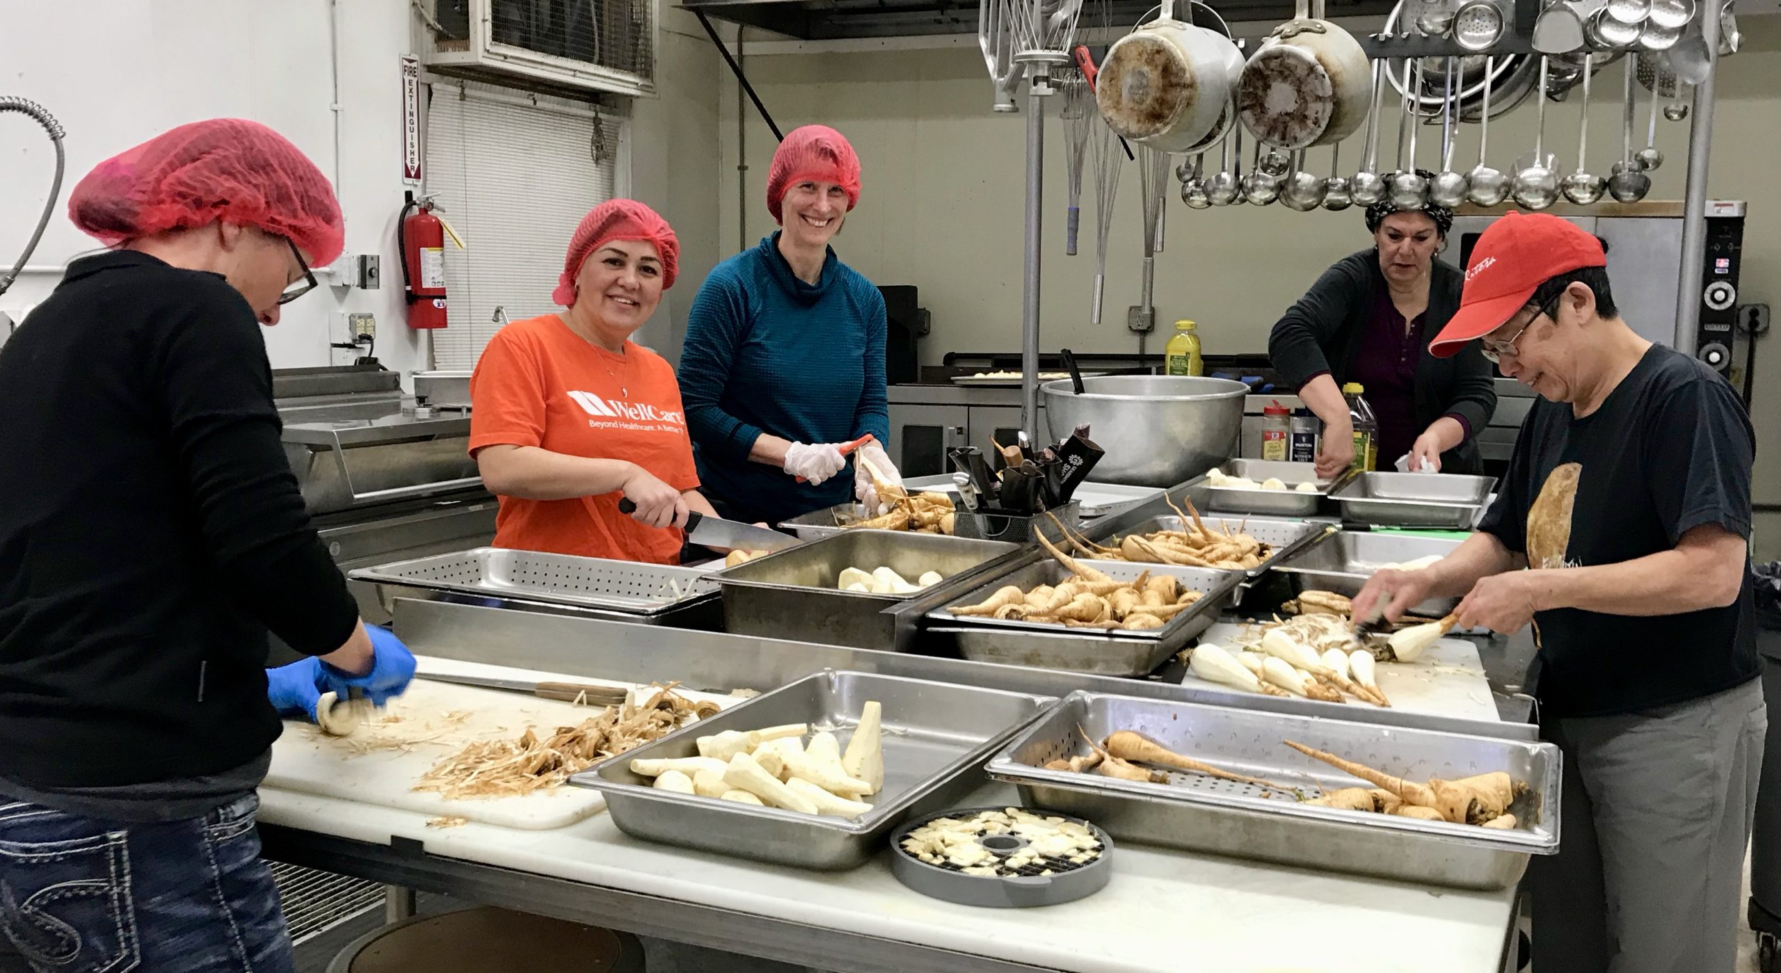
{"label": "white wall behind the person in black, left of fire extinguisher", "polygon": [[[326,365],[346,340],[338,312],[378,315],[378,358],[410,371],[420,337],[404,324],[395,266],[403,201],[399,55],[408,5],[340,0],[340,110],[335,134],[331,0],[0,0],[0,93],[32,98],[68,130],[62,201],[28,273],[0,310],[39,301],[57,267],[96,248],[64,216],[68,189],[102,159],[166,128],[239,116],[271,125],[328,173],[346,212],[349,253],[381,253],[379,290],[322,287],[265,330],[274,367]],[[0,116],[0,260],[23,248],[50,182],[48,141],[21,114]],[[337,157],[338,148],[338,157]],[[337,166],[338,159],[338,166]],[[326,278],[324,278],[326,282]],[[394,282],[394,285],[392,285]],[[337,353],[335,362],[349,360]]]}

